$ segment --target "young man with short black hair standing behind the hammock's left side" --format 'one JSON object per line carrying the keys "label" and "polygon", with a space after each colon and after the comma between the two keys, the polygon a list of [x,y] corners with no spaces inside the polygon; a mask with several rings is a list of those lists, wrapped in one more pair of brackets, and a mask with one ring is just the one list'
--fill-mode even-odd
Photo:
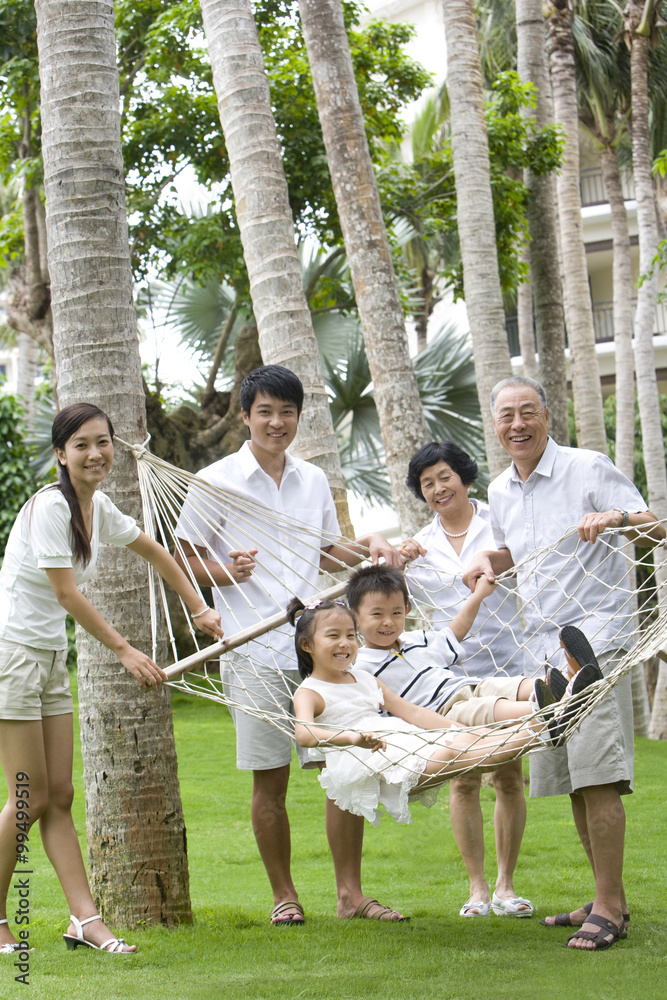
{"label": "young man with short black hair standing behind the hammock's left side", "polygon": [[[402,561],[381,535],[360,538],[356,545],[338,543],[340,529],[326,476],[288,452],[302,406],[303,386],[293,372],[279,365],[251,372],[241,386],[249,440],[198,475],[261,504],[262,510],[229,510],[216,516],[219,523],[213,525],[210,517],[201,517],[202,505],[191,491],[181,511],[177,535],[185,558],[197,582],[213,587],[228,637],[284,611],[295,593],[307,598],[317,587],[320,567],[335,569],[339,561],[354,565],[368,553],[373,561],[381,557],[393,565]],[[294,641],[286,626],[224,659],[223,683],[236,726],[237,767],[253,772],[252,824],[273,890],[274,924],[301,924],[304,919],[290,870],[285,807],[292,740],[240,706],[291,712],[298,682]],[[331,807],[327,829],[340,842],[350,821],[333,803]],[[360,891],[358,895],[361,898]],[[339,905],[341,916],[352,915],[340,910]]]}

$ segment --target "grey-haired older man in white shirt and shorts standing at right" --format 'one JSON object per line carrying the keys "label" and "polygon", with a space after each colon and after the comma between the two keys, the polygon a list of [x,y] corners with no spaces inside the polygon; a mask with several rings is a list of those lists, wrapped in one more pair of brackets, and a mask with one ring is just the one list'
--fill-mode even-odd
{"label": "grey-haired older man in white shirt and shorts standing at right", "polygon": [[[526,602],[527,672],[547,657],[554,662],[563,625],[580,625],[607,673],[632,644],[631,603],[619,536],[597,545],[596,539],[608,528],[631,526],[635,531],[629,537],[650,545],[664,537],[664,529],[606,456],[564,448],[549,437],[549,411],[539,382],[504,379],[491,393],[491,408],[496,436],[512,465],[489,488],[498,551],[480,553],[464,579],[469,585],[482,574],[494,579],[578,523],[578,537],[561,544],[539,566],[528,562],[519,567],[519,592]],[[569,558],[575,550],[576,558]],[[609,740],[601,739],[606,732]],[[531,758],[531,795],[570,795],[595,877],[592,905],[543,921],[549,926],[581,926],[568,942],[572,948],[599,950],[626,936],[625,811],[620,796],[632,790],[632,744],[626,677],[564,747]]]}

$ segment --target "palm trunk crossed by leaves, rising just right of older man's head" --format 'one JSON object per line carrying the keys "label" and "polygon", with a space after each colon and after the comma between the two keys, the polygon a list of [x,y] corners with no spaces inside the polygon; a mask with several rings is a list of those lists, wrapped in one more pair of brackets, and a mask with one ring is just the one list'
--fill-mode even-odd
{"label": "palm trunk crossed by leaves, rising just right of older man's head", "polygon": [[[535,108],[526,108],[538,128],[553,123],[551,81],[545,49],[542,0],[516,0],[517,68],[537,88]],[[530,191],[526,210],[530,232],[531,283],[539,355],[539,380],[549,401],[549,429],[559,444],[569,444],[565,320],[558,250],[555,181],[524,170]],[[530,374],[526,371],[526,374]]]}

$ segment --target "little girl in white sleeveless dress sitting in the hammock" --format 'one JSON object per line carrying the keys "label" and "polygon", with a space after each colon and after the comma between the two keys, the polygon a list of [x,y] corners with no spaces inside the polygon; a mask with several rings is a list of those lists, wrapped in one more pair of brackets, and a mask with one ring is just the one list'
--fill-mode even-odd
{"label": "little girl in white sleeveless dress sitting in the hammock", "polygon": [[[301,746],[324,753],[320,783],[340,809],[377,826],[382,805],[397,822],[409,823],[412,789],[430,792],[425,803],[430,805],[437,789],[433,794],[429,779],[439,782],[470,767],[492,770],[545,742],[543,722],[536,722],[534,731],[469,733],[405,701],[381,680],[352,669],[357,637],[349,608],[341,601],[316,601],[296,620],[303,607],[295,599],[288,608],[305,678],[294,695],[295,735]],[[378,715],[381,706],[393,718]]]}

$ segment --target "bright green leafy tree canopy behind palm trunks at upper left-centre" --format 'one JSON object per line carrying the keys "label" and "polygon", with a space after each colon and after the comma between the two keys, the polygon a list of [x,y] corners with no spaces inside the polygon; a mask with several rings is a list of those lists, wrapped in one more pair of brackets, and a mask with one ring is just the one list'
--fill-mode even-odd
{"label": "bright green leafy tree canopy behind palm trunks at upper left-centre", "polygon": [[[192,0],[120,0],[116,5],[123,103],[123,144],[135,273],[150,267],[202,284],[226,281],[240,303],[247,275],[233,211],[229,163],[201,12]],[[403,52],[411,29],[355,27],[359,6],[346,4],[350,45],[372,154],[400,137],[400,108],[429,83]],[[302,232],[324,245],[341,241],[298,5],[258,0],[254,12],[283,151],[289,199]],[[210,192],[205,213],[188,212],[172,182],[186,167]]]}

